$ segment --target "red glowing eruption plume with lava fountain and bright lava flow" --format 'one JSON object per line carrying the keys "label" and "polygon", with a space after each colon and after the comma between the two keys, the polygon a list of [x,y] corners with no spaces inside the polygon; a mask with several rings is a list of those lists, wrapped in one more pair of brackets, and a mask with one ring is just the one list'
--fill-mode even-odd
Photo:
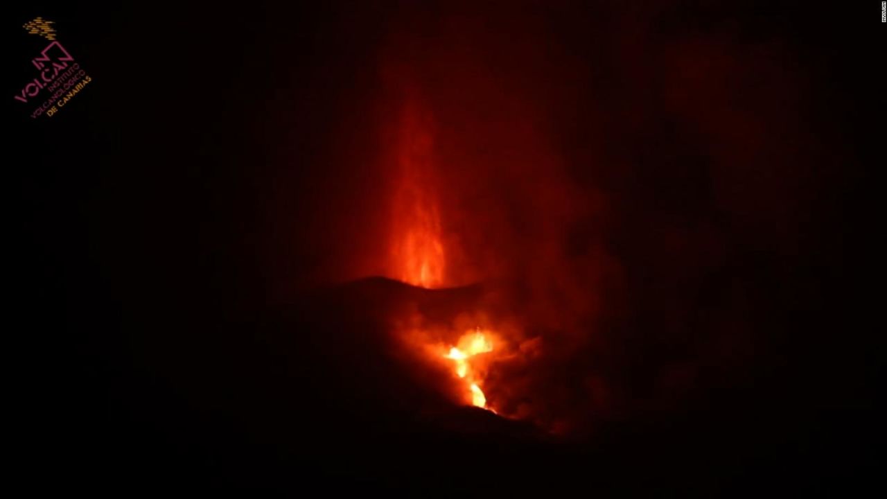
{"label": "red glowing eruption plume with lava fountain and bright lava flow", "polygon": [[[584,234],[568,235],[589,214],[589,196],[577,196],[553,147],[548,94],[504,84],[479,60],[475,48],[491,43],[483,31],[458,29],[447,39],[403,35],[381,67],[383,273],[453,288],[426,310],[404,308],[391,319],[427,369],[417,376],[441,375],[436,388],[450,400],[551,427],[549,413],[561,408],[549,401],[560,392],[546,386],[543,353],[555,351],[541,336],[583,345],[577,323],[596,304],[597,259]],[[536,61],[545,74],[544,58],[523,49],[532,57],[521,67]],[[483,296],[460,290],[474,284]],[[477,326],[491,348],[469,353],[463,337]]]}

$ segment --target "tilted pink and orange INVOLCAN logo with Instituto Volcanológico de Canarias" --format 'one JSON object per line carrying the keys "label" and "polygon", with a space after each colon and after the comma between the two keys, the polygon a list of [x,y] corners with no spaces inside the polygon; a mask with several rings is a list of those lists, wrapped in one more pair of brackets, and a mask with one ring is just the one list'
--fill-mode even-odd
{"label": "tilted pink and orange INVOLCAN logo with Instituto Volcanol\u00f3gico de Canarias", "polygon": [[17,95],[12,96],[27,106],[33,119],[56,115],[92,82],[92,77],[80,67],[71,52],[56,40],[51,24],[51,21],[36,18],[24,26],[28,33],[50,41],[39,55],[31,59],[35,67],[34,77],[22,85]]}

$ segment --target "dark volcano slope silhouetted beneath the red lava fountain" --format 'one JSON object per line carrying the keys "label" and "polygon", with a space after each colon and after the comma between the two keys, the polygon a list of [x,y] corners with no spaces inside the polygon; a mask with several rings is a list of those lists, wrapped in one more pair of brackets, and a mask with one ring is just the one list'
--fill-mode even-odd
{"label": "dark volcano slope silhouetted beneath the red lava fountain", "polygon": [[[119,442],[108,469],[127,486],[294,493],[424,493],[428,484],[460,495],[725,493],[772,479],[818,487],[800,473],[821,471],[821,450],[792,447],[791,425],[750,418],[768,408],[734,400],[742,393],[683,416],[610,422],[581,441],[451,404],[433,376],[417,376],[421,366],[397,353],[389,317],[420,309],[443,318],[480,296],[367,279],[274,313],[153,330],[146,364],[164,367],[122,387],[132,421],[117,423],[144,440]],[[734,412],[740,403],[749,408]]]}

